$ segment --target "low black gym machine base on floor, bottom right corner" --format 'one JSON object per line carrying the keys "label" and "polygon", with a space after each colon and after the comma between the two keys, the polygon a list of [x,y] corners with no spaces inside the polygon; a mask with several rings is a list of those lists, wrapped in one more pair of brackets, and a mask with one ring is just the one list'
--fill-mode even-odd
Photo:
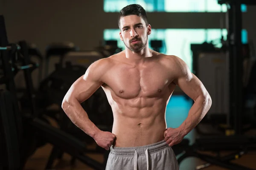
{"label": "low black gym machine base on floor, bottom right corner", "polygon": [[[241,158],[248,150],[255,149],[256,136],[204,136],[197,139],[195,144],[184,146],[184,151],[177,161],[180,164],[187,157],[193,156],[207,162],[196,167],[196,170],[201,170],[211,165],[217,165],[230,170],[253,170],[230,161]],[[202,151],[215,152],[217,156],[210,156],[202,153]],[[233,153],[220,156],[220,151],[233,151]]]}

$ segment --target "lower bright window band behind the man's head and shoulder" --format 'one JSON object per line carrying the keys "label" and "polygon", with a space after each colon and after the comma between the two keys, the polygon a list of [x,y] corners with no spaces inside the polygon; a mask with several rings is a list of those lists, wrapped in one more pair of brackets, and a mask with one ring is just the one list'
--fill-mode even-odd
{"label": "lower bright window band behind the man's head and shoulder", "polygon": [[[165,42],[165,48],[160,52],[180,57],[192,70],[190,44],[212,41],[217,47],[221,47],[221,34],[224,40],[227,40],[226,29],[152,29],[151,35],[148,36],[148,41],[163,40]],[[247,43],[246,30],[242,31],[241,38],[243,43]],[[104,31],[104,40],[117,40],[118,47],[125,49],[125,45],[119,37],[119,29],[106,29]],[[150,43],[149,46],[152,48]]]}

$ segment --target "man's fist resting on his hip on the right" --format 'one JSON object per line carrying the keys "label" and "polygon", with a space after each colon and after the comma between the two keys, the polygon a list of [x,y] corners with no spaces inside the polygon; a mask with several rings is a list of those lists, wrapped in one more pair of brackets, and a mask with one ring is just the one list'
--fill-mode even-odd
{"label": "man's fist resting on his hip on the right", "polygon": [[180,143],[184,136],[182,135],[182,132],[179,129],[169,127],[163,133],[163,137],[164,140],[166,141],[166,144],[172,147],[173,145]]}

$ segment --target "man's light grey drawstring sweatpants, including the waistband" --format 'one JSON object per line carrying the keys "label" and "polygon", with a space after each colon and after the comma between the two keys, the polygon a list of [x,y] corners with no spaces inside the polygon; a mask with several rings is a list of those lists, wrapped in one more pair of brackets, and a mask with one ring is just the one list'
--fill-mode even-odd
{"label": "man's light grey drawstring sweatpants, including the waistband", "polygon": [[111,147],[106,170],[179,170],[176,156],[163,140],[140,147]]}

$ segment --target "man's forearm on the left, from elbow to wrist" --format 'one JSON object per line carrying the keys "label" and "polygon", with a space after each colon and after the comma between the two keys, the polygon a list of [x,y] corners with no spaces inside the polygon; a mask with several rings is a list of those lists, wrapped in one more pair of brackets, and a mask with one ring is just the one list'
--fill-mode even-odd
{"label": "man's forearm on the left, from elbow to wrist", "polygon": [[70,120],[87,135],[92,138],[99,132],[99,128],[90,121],[86,111],[82,108],[78,100],[74,99],[72,102],[64,100],[62,108]]}

